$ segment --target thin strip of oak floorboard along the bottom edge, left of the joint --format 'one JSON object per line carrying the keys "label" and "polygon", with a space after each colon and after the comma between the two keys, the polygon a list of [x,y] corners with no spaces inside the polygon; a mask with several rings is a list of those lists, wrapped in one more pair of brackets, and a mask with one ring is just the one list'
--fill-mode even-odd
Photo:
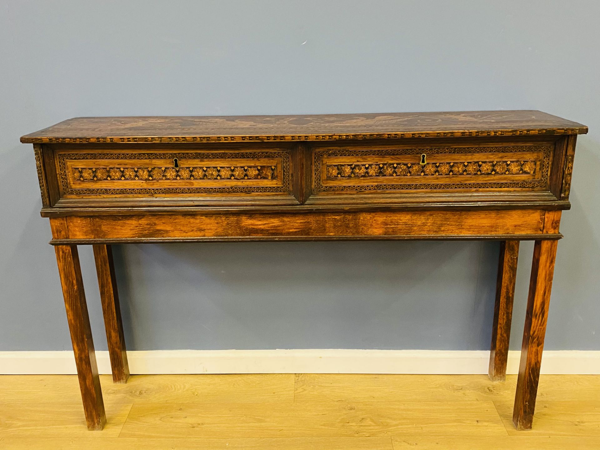
{"label": "thin strip of oak floorboard along the bottom edge, left of the joint", "polygon": [[0,439],[2,450],[393,450],[389,437],[283,437],[245,439]]}

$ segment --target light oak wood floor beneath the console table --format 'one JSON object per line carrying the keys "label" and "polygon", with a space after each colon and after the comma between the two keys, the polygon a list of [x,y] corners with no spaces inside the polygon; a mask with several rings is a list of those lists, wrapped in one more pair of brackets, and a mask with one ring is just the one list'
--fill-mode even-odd
{"label": "light oak wood floor beneath the console table", "polygon": [[88,431],[76,376],[0,376],[0,449],[598,449],[600,376],[542,376],[532,431],[516,377],[101,376],[107,425]]}

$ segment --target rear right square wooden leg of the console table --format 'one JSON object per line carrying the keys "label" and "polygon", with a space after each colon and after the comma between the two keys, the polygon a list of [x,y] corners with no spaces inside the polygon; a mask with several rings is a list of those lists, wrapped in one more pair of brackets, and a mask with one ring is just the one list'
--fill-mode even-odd
{"label": "rear right square wooden leg of the console table", "polygon": [[511,337],[512,301],[515,298],[519,241],[500,242],[500,260],[496,284],[496,304],[491,332],[490,368],[492,381],[506,379],[508,343]]}

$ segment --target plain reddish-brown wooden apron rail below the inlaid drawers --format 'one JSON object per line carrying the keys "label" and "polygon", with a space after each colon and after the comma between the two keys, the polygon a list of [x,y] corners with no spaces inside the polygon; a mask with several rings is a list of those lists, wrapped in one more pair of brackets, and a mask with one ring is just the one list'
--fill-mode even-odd
{"label": "plain reddish-brown wooden apron rail below the inlaid drawers", "polygon": [[[543,211],[306,212],[69,216],[63,239],[403,239],[541,235]],[[558,238],[545,235],[544,238]]]}

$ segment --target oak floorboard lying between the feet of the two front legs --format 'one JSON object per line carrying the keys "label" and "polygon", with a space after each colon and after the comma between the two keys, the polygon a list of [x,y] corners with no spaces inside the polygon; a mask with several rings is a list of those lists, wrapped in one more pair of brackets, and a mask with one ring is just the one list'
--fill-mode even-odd
{"label": "oak floorboard lying between the feet of the two front legs", "polygon": [[491,401],[134,404],[124,437],[506,436]]}

